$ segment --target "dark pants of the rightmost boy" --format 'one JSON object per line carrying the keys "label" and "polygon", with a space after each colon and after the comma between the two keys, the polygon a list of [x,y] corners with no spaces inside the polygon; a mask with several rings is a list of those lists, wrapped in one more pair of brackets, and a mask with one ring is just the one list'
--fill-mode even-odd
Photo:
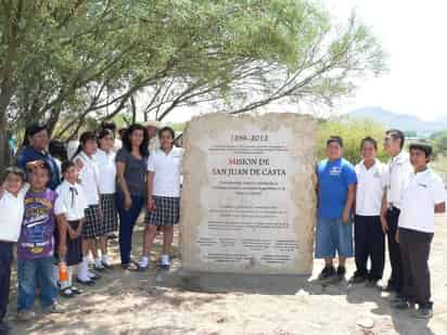
{"label": "dark pants of the rightmost boy", "polygon": [[404,267],[403,297],[420,307],[431,308],[429,257],[433,234],[399,229],[399,246]]}

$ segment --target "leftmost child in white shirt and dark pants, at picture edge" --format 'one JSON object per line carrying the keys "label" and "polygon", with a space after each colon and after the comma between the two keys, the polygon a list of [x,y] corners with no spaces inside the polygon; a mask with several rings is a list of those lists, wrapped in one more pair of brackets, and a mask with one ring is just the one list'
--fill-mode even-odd
{"label": "leftmost child in white shirt and dark pants, at picture edge", "polygon": [[10,167],[0,191],[0,334],[11,330],[3,319],[10,297],[13,245],[21,234],[24,198],[28,190],[24,181],[25,172],[17,167]]}

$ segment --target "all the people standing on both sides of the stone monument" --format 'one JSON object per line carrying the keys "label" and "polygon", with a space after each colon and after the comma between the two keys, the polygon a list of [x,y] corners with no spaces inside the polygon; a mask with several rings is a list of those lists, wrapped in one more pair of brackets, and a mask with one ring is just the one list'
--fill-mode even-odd
{"label": "all the people standing on both sides of the stone monument", "polygon": [[[175,132],[168,127],[135,124],[117,133],[116,126],[106,123],[95,132],[84,132],[74,146],[50,142],[46,126],[26,129],[16,166],[7,169],[0,191],[0,332],[9,330],[3,318],[14,243],[20,320],[34,317],[36,296],[44,310],[63,311],[58,295],[81,294],[73,278],[81,285],[95,285],[98,272],[112,267],[107,236],[117,230],[124,269],[153,266],[150,254],[159,231],[159,266],[169,269],[183,150],[175,146]],[[427,260],[434,214],[445,211],[447,196],[442,179],[427,167],[432,147],[411,143],[408,154],[404,144],[401,131],[386,132],[391,160],[385,165],[376,158],[376,140],[367,137],[360,143],[362,160],[354,167],[343,158],[343,140],[328,139],[328,158],[316,170],[315,252],[316,258],[324,259],[320,281],[343,279],[346,258],[355,255],[357,270],[350,281],[378,286],[387,236],[392,274],[385,289],[396,293],[392,306],[406,309],[418,304],[417,317],[430,318]],[[136,261],[132,233],[143,208],[143,248]]]}

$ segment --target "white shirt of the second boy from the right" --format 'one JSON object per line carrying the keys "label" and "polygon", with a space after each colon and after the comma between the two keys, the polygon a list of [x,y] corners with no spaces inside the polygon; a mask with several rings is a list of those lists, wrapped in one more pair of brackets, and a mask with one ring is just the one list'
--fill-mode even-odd
{"label": "white shirt of the second boy from the right", "polygon": [[400,209],[404,188],[413,168],[407,153],[400,152],[388,162],[386,171],[386,202]]}

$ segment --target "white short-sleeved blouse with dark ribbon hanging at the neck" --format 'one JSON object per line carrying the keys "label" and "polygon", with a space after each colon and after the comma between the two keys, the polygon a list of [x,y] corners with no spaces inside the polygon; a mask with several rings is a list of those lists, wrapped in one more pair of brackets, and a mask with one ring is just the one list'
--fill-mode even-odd
{"label": "white short-sleeved blouse with dark ribbon hanging at the neck", "polygon": [[68,181],[63,181],[55,192],[58,193],[54,203],[55,215],[64,214],[68,221],[85,218],[88,204],[84,190],[78,183],[71,184]]}

